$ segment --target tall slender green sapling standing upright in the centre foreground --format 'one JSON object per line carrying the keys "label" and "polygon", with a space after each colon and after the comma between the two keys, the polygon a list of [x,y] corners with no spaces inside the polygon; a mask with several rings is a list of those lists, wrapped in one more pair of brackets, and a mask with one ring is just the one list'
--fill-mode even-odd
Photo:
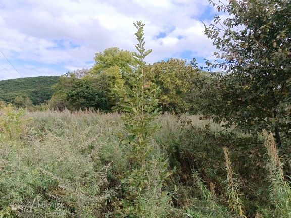
{"label": "tall slender green sapling standing upright in the centre foreground", "polygon": [[[154,211],[152,209],[148,210],[150,205],[148,202],[144,202],[143,195],[147,195],[147,192],[155,187],[161,190],[162,182],[169,174],[167,172],[167,163],[163,163],[164,159],[159,158],[156,161],[152,156],[153,147],[149,143],[149,137],[157,129],[157,126],[153,125],[152,121],[159,115],[157,94],[160,90],[147,81],[146,72],[144,71],[144,65],[146,64],[144,58],[152,52],[152,50],[146,51],[144,48],[144,24],[137,21],[134,26],[137,28],[135,36],[138,44],[135,47],[138,52],[133,52],[133,57],[138,63],[138,68],[133,72],[124,74],[128,82],[127,86],[123,88],[116,86],[115,88],[117,95],[121,97],[119,106],[125,112],[122,120],[127,131],[127,137],[121,143],[130,145],[130,159],[133,165],[133,170],[129,171],[127,178],[122,180],[125,198],[121,201],[123,208],[119,216],[152,217],[152,215],[149,216],[149,213]],[[158,164],[158,174],[151,178],[150,172],[153,172],[151,168],[154,162]],[[150,185],[150,181],[155,179],[157,181],[153,187]],[[162,191],[160,191],[160,194],[167,195]],[[160,195],[156,197],[162,198]],[[144,204],[147,205],[145,208],[143,208]],[[153,206],[153,202],[150,202],[150,204]],[[158,216],[165,217],[163,214]]]}

